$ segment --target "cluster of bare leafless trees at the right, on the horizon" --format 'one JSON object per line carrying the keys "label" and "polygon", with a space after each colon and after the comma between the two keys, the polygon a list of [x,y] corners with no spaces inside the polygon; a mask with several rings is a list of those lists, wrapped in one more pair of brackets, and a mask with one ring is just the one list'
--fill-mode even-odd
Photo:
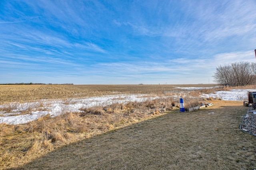
{"label": "cluster of bare leafless trees at the right, on the horizon", "polygon": [[256,83],[256,63],[235,62],[219,65],[214,72],[214,81],[223,86],[245,86]]}

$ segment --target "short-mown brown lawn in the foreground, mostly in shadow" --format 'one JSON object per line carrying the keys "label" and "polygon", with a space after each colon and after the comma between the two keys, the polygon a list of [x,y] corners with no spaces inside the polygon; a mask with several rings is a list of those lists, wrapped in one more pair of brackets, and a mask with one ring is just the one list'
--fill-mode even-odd
{"label": "short-mown brown lawn in the foreground, mostly in shadow", "polygon": [[256,138],[239,129],[247,108],[213,103],[67,144],[14,169],[255,169]]}

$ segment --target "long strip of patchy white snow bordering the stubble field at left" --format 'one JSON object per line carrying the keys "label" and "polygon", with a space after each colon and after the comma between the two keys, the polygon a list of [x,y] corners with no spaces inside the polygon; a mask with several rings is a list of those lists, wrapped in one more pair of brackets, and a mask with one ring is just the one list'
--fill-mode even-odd
{"label": "long strip of patchy white snow bordering the stubble field at left", "polygon": [[[5,111],[0,113],[0,123],[6,123],[9,125],[18,125],[24,124],[31,121],[35,121],[40,117],[50,115],[50,117],[56,117],[62,113],[67,112],[83,112],[80,109],[90,108],[97,106],[106,106],[113,103],[127,103],[131,102],[142,102],[148,99],[156,99],[157,96],[148,96],[148,95],[107,95],[101,97],[88,97],[84,99],[67,99],[67,100],[42,100],[38,102],[31,103],[11,103],[8,105],[0,105],[0,108],[15,108],[12,109],[12,113],[5,113]],[[47,107],[37,107],[39,105]],[[34,109],[29,114],[20,115],[22,111],[28,109]],[[47,110],[47,111],[36,111]]]}

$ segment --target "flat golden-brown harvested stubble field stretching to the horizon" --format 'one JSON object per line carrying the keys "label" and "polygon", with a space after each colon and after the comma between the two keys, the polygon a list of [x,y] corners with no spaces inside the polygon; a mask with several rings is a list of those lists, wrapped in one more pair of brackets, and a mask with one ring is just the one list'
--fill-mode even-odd
{"label": "flat golden-brown harvested stubble field stretching to the horizon", "polygon": [[[40,99],[68,99],[113,94],[173,93],[174,87],[213,87],[215,84],[199,85],[0,85],[0,104],[8,102],[31,102]],[[113,93],[114,92],[114,93]]]}

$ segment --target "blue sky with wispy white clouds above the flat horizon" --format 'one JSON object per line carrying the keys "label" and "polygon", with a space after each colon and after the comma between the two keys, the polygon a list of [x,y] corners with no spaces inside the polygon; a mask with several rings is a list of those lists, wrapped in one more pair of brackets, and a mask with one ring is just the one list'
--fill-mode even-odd
{"label": "blue sky with wispy white clouds above the flat horizon", "polygon": [[254,62],[255,0],[1,0],[0,83],[214,83]]}

